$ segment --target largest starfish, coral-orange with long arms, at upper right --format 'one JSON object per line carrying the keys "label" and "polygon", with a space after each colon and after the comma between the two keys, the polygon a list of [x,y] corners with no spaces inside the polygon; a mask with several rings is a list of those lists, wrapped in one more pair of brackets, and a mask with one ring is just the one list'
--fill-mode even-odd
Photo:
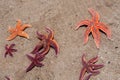
{"label": "largest starfish, coral-orange with long arms, at upper right", "polygon": [[93,38],[94,38],[94,42],[97,46],[97,48],[99,48],[100,45],[100,33],[99,30],[103,31],[108,39],[111,38],[111,31],[109,30],[108,26],[105,25],[104,23],[100,22],[100,15],[94,11],[93,9],[89,9],[90,14],[92,15],[92,19],[91,20],[83,20],[80,21],[77,24],[77,27],[75,28],[75,30],[77,30],[79,27],[86,25],[87,29],[85,31],[84,34],[84,44],[86,44],[88,42],[88,36],[90,33],[92,33]]}

